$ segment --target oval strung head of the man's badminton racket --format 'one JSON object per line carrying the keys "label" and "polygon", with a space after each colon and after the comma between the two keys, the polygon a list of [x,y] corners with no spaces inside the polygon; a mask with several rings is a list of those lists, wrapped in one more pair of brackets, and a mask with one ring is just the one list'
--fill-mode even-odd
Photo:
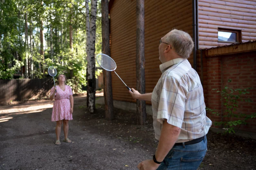
{"label": "oval strung head of the man's badminton racket", "polygon": [[116,69],[115,61],[106,54],[100,53],[96,56],[96,60],[100,67],[107,71],[114,71]]}

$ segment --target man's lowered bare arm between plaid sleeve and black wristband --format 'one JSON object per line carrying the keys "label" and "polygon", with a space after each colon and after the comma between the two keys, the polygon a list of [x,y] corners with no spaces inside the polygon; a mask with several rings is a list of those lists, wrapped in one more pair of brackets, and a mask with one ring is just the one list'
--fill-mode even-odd
{"label": "man's lowered bare arm between plaid sleeve and black wristband", "polygon": [[158,162],[162,162],[164,160],[168,152],[171,150],[171,148],[177,141],[179,133],[180,128],[168,124],[166,120],[164,121],[158,147],[155,154],[156,160]]}

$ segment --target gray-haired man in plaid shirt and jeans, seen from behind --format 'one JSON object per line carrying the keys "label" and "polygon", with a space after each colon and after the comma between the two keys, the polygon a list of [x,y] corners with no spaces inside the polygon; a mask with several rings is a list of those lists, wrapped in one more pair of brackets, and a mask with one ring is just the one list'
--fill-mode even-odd
{"label": "gray-haired man in plaid shirt and jeans, seen from behind", "polygon": [[194,48],[192,38],[174,29],[160,39],[162,75],[153,93],[134,99],[152,102],[153,127],[159,141],[155,155],[138,165],[140,170],[196,170],[206,155],[206,134],[212,121],[206,117],[203,87],[187,58]]}

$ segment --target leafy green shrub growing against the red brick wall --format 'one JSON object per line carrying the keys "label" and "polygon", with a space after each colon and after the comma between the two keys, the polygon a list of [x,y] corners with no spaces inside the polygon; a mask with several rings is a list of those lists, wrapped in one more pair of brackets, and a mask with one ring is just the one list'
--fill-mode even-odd
{"label": "leafy green shrub growing against the red brick wall", "polygon": [[[232,80],[229,79],[228,83],[230,83]],[[246,89],[232,89],[229,88],[229,86],[225,86],[223,90],[219,89],[212,89],[216,91],[216,93],[221,94],[221,101],[223,102],[223,107],[225,108],[223,114],[220,112],[206,108],[207,111],[211,112],[214,115],[223,117],[226,121],[220,121],[215,122],[215,125],[223,126],[225,129],[225,133],[233,133],[235,134],[241,125],[247,125],[246,122],[248,119],[256,118],[256,113],[251,114],[244,114],[237,112],[239,101],[245,101],[245,102],[252,102],[251,99],[243,98],[244,95],[249,94],[248,90],[251,88]],[[232,120],[232,118],[239,118],[238,120]]]}

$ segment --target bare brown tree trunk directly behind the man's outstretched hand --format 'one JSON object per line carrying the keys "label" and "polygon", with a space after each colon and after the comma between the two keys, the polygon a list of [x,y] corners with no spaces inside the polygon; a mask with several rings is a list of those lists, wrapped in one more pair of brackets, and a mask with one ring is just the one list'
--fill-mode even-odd
{"label": "bare brown tree trunk directly behind the man's outstretched hand", "polygon": [[[136,7],[136,88],[145,93],[144,55],[144,0],[137,0]],[[147,120],[146,102],[137,100],[137,124],[145,125]]]}

